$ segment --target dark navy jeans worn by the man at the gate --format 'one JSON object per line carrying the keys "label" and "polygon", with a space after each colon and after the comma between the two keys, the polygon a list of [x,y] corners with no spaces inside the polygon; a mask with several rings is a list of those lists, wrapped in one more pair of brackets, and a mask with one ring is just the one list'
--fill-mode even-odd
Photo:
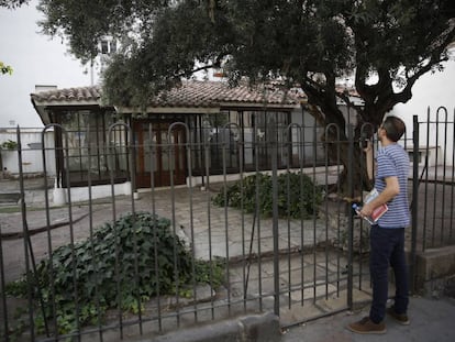
{"label": "dark navy jeans worn by the man at the gate", "polygon": [[404,229],[386,229],[373,225],[370,232],[369,269],[373,280],[373,304],[369,318],[379,323],[386,316],[388,298],[389,265],[395,274],[395,311],[407,313],[408,310],[408,268],[404,256]]}

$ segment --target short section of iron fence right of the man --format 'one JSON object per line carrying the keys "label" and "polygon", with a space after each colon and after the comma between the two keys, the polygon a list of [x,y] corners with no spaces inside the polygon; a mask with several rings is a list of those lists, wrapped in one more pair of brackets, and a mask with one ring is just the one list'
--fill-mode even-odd
{"label": "short section of iron fence right of the man", "polygon": [[415,244],[420,251],[453,244],[454,236],[454,115],[446,108],[428,109],[425,120],[413,120]]}

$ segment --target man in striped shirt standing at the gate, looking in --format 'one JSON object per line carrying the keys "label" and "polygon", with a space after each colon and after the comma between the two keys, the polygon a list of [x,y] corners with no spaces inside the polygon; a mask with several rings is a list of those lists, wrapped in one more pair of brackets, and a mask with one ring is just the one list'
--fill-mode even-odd
{"label": "man in striped shirt standing at the gate, looking in", "polygon": [[385,333],[386,304],[388,298],[388,269],[393,268],[396,280],[395,305],[387,309],[401,324],[409,324],[408,268],[404,255],[404,228],[410,223],[408,203],[409,156],[397,144],[404,133],[404,123],[396,117],[387,117],[378,129],[382,148],[377,154],[375,187],[379,196],[365,203],[359,214],[369,217],[373,210],[387,203],[370,232],[369,267],[373,280],[373,304],[369,316],[351,323],[347,329],[357,333]]}

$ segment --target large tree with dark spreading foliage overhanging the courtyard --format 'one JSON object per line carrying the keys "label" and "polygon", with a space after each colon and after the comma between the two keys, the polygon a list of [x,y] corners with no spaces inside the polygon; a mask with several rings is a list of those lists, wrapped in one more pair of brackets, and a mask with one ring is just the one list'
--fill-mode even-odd
{"label": "large tree with dark spreading foliage overhanging the courtyard", "polygon": [[[42,0],[40,9],[44,32],[66,36],[82,60],[103,35],[121,40],[103,84],[114,104],[144,104],[195,70],[222,66],[233,82],[300,85],[312,114],[337,124],[342,140],[337,99],[357,111],[356,136],[364,122],[379,125],[419,77],[442,68],[455,35],[453,0]],[[363,107],[336,90],[346,75]]]}

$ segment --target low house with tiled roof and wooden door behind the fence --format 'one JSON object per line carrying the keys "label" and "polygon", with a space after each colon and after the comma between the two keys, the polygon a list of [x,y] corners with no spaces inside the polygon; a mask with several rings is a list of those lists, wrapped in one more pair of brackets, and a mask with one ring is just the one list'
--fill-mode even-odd
{"label": "low house with tiled roof and wooden door behind the fence", "polygon": [[324,159],[322,148],[314,155],[321,129],[302,109],[304,97],[277,87],[184,81],[159,92],[144,112],[103,104],[97,86],[47,89],[31,99],[45,130],[55,133],[56,187],[71,192],[112,180],[120,194],[185,185],[190,177],[203,184],[206,165],[209,175],[235,174],[241,165],[244,172],[270,169],[271,145],[257,142],[297,141],[300,134],[308,144],[279,148],[278,168],[298,167],[299,154]]}

